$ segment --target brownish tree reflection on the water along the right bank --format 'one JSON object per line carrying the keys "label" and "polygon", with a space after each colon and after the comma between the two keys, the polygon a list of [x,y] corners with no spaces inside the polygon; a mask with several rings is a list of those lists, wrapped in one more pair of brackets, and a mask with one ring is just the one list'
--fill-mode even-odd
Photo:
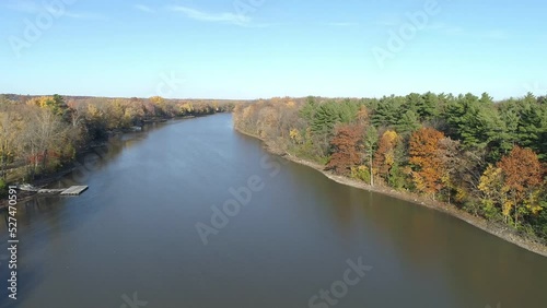
{"label": "brownish tree reflection on the water along the right bank", "polygon": [[[291,173],[294,179],[289,185],[299,185],[304,191],[298,203],[315,200],[314,206],[323,223],[329,224],[324,225],[331,230],[324,236],[325,246],[335,241],[348,256],[364,256],[375,265],[375,272],[382,273],[377,285],[386,281],[399,291],[399,303],[405,298],[407,303],[418,303],[414,299],[417,294],[433,293],[437,296],[430,296],[423,305],[445,307],[446,298],[451,298],[451,307],[468,307],[469,303],[477,307],[488,303],[502,303],[503,307],[545,307],[545,293],[528,296],[525,287],[500,292],[508,289],[508,283],[546,285],[544,257],[447,214],[336,183],[316,170],[293,163],[290,167],[294,169]],[[524,265],[532,263],[536,265]],[[405,285],[416,277],[421,277],[430,289]],[[379,305],[398,305],[393,300],[394,306],[389,306],[389,298],[386,296]]]}

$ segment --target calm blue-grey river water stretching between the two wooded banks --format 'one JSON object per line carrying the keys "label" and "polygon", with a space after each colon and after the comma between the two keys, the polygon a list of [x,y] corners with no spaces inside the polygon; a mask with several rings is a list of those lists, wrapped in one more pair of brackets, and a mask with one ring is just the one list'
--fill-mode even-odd
{"label": "calm blue-grey river water stretching between the two wooded banks", "polygon": [[1,307],[547,307],[547,258],[270,156],[230,115],[107,150],[57,185],[82,196],[20,205],[19,299],[2,287]]}

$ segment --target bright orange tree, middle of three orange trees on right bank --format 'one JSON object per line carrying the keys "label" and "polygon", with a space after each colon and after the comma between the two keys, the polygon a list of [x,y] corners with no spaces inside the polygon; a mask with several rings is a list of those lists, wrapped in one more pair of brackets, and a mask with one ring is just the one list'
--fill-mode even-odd
{"label": "bright orange tree, middle of three orange trees on right bank", "polygon": [[426,194],[435,193],[443,188],[443,164],[438,150],[444,134],[433,128],[421,128],[410,138],[410,164],[414,165],[412,178],[416,188]]}

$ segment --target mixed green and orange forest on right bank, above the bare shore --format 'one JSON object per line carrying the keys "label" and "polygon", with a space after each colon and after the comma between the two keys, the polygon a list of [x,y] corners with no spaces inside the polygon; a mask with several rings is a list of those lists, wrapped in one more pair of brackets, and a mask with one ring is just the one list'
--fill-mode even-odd
{"label": "mixed green and orange forest on right bank, above the bare shore", "polygon": [[260,99],[234,127],[338,175],[444,202],[547,244],[547,97]]}

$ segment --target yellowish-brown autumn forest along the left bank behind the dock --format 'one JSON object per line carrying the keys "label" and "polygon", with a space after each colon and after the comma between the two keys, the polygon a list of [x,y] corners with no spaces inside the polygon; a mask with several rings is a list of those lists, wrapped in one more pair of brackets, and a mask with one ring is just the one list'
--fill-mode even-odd
{"label": "yellowish-brown autumn forest along the left bank behind the dock", "polygon": [[62,169],[78,154],[146,122],[231,111],[235,102],[0,95],[0,193]]}

